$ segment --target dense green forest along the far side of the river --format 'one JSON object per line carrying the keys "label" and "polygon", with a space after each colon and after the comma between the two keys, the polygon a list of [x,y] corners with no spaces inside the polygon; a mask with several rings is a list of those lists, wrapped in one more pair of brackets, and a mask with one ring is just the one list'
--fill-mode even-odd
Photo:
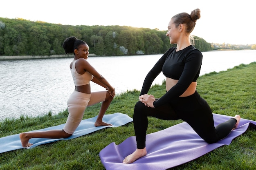
{"label": "dense green forest along the far side of the river", "polygon": [[[63,55],[62,44],[75,36],[90,46],[95,55],[139,55],[164,53],[171,46],[167,31],[130,26],[71,26],[0,18],[0,55]],[[199,37],[195,47],[212,50],[211,44]]]}

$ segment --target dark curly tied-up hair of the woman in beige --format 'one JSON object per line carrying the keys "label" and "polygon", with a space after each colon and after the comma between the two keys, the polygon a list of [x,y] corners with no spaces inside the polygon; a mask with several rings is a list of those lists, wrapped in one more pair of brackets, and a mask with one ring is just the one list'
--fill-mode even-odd
{"label": "dark curly tied-up hair of the woman in beige", "polygon": [[72,37],[66,38],[62,46],[63,46],[63,49],[65,50],[65,53],[70,54],[70,53],[74,53],[74,49],[78,49],[81,44],[86,44],[86,42],[72,36]]}

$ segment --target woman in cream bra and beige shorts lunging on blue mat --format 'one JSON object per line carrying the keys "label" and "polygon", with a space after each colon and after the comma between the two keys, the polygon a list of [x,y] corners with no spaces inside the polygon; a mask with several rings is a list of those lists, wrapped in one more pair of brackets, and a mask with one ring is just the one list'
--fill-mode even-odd
{"label": "woman in cream bra and beige shorts lunging on blue mat", "polygon": [[[87,61],[89,55],[88,44],[75,37],[69,37],[64,41],[63,48],[66,53],[74,53],[74,60],[70,63],[70,70],[75,89],[67,101],[69,115],[66,124],[62,130],[20,133],[23,147],[33,145],[29,143],[31,138],[58,139],[70,137],[79,126],[85,113],[85,108],[99,102],[102,102],[102,104],[94,126],[112,125],[103,122],[102,118],[115,96],[115,88]],[[90,81],[106,88],[106,91],[91,92]]]}

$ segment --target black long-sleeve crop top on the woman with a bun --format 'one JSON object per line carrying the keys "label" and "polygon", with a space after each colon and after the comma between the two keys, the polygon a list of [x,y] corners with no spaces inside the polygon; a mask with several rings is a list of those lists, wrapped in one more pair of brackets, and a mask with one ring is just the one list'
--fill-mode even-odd
{"label": "black long-sleeve crop top on the woman with a bun", "polygon": [[177,52],[175,50],[176,47],[168,49],[144,80],[140,95],[148,93],[154,79],[161,71],[166,77],[178,80],[175,86],[154,102],[155,107],[170,103],[173,99],[182,95],[191,82],[196,82],[199,77],[202,53],[192,45]]}

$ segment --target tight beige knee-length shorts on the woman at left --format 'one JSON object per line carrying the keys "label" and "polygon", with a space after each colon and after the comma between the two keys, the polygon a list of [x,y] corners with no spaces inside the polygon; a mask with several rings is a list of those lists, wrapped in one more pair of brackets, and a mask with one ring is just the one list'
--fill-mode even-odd
{"label": "tight beige knee-length shorts on the woman at left", "polygon": [[63,130],[68,134],[73,134],[83,119],[83,114],[87,106],[104,102],[107,91],[97,91],[91,94],[74,91],[67,100],[68,117]]}

